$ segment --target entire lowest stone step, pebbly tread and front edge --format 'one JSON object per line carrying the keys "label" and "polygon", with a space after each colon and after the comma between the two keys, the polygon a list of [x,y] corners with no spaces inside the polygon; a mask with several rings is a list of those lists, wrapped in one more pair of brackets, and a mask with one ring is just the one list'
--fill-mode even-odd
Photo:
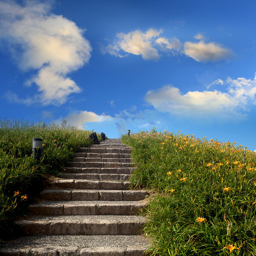
{"label": "entire lowest stone step, pebbly tread and front edge", "polygon": [[143,256],[144,236],[26,236],[0,249],[2,256]]}

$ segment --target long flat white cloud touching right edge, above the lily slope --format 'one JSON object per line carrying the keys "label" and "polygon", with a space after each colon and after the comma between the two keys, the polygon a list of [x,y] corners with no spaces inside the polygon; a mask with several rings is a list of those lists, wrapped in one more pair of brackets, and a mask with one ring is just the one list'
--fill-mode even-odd
{"label": "long flat white cloud touching right edge, above the lily slope", "polygon": [[[177,87],[166,85],[158,90],[150,90],[145,100],[161,112],[183,114],[185,116],[228,116],[244,117],[250,104],[256,105],[256,76],[254,79],[218,79],[218,84],[226,85],[227,91],[189,91],[182,94]],[[230,115],[232,114],[232,115]]]}

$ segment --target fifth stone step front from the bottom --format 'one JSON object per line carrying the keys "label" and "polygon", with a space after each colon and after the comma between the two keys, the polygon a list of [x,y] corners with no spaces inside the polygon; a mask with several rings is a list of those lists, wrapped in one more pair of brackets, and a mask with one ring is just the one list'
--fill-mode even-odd
{"label": "fifth stone step front from the bottom", "polygon": [[129,187],[129,182],[112,180],[54,180],[52,185],[67,189],[126,190]]}

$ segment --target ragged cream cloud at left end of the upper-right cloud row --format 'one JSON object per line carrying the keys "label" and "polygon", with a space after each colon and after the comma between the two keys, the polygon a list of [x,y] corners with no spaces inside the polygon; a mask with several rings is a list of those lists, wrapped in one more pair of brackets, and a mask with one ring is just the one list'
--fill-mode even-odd
{"label": "ragged cream cloud at left end of the upper-right cloud row", "polygon": [[158,60],[160,57],[153,44],[154,38],[159,36],[160,33],[161,31],[154,29],[148,29],[145,33],[139,29],[127,34],[118,33],[116,34],[118,40],[105,47],[102,52],[119,56],[119,51],[123,50],[134,55],[142,55],[145,60]]}

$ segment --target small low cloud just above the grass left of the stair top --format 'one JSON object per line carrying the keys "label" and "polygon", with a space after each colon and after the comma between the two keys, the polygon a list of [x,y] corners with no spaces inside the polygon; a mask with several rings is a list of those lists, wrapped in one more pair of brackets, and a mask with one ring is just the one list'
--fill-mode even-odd
{"label": "small low cloud just above the grass left of the stair top", "polygon": [[113,117],[106,116],[105,114],[97,115],[91,111],[76,111],[71,112],[69,115],[65,117],[60,117],[56,120],[57,123],[61,123],[62,120],[65,119],[67,124],[77,126],[80,129],[87,127],[87,122],[103,122],[103,121],[111,121]]}

